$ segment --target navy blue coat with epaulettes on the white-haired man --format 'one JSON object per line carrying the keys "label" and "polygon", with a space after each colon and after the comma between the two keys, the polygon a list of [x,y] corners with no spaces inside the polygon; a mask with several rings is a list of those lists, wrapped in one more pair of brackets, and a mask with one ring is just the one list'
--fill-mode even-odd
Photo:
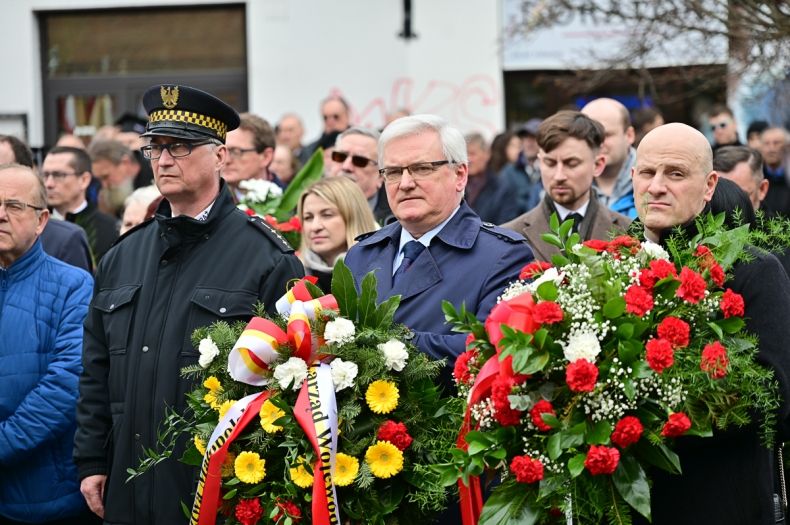
{"label": "navy blue coat with epaulettes on the white-haired man", "polygon": [[415,332],[414,343],[423,352],[452,366],[464,351],[465,334],[452,332],[444,321],[442,301],[462,303],[478,319],[485,319],[507,284],[518,278],[532,261],[532,251],[515,232],[483,223],[469,206],[461,208],[428,249],[409,268],[408,277],[392,286],[392,263],[400,242],[398,222],[360,237],[346,254],[345,262],[357,285],[375,271],[378,297],[400,294],[395,321]]}

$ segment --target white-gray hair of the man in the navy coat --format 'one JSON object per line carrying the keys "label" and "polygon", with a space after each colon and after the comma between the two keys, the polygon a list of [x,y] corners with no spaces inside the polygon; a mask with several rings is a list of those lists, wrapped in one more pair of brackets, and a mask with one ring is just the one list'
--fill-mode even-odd
{"label": "white-gray hair of the man in the navy coat", "polygon": [[[467,164],[466,141],[456,128],[437,115],[410,115],[393,120],[384,128],[379,139],[379,166],[384,162],[384,149],[389,141],[401,137],[434,132],[442,141],[442,153],[453,164]],[[435,159],[440,160],[440,159]]]}

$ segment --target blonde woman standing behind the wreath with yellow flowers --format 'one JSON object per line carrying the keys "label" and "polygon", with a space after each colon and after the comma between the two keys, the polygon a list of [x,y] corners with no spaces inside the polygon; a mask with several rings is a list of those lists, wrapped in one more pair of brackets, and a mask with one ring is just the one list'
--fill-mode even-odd
{"label": "blonde woman standing behind the wreath with yellow flowers", "polygon": [[362,190],[344,176],[328,177],[309,186],[299,198],[302,221],[299,258],[305,273],[318,277],[329,293],[332,268],[355,243],[358,235],[379,228]]}

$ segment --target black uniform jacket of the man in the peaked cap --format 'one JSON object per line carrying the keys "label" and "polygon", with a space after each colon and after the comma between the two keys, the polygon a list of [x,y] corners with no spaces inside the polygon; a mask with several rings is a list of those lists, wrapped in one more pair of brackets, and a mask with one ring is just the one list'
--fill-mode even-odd
{"label": "black uniform jacket of the man in the peaked cap", "polygon": [[237,210],[224,182],[205,222],[170,217],[128,232],[99,264],[85,321],[74,459],[80,479],[107,474],[105,523],[186,523],[196,469],[180,451],[125,483],[143,447],[154,447],[170,408],[192,387],[180,370],[197,362],[190,336],[222,319],[248,320],[261,301],[274,311],[290,279],[303,275],[288,244]]}

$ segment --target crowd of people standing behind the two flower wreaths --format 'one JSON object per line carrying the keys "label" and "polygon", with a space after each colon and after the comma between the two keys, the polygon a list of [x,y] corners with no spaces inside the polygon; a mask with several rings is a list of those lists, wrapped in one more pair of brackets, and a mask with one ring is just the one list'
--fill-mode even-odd
{"label": "crowd of people standing behind the two flower wreaths", "polygon": [[[383,130],[352,126],[349,104],[330,97],[321,136],[305,143],[295,114],[272,126],[188,86],[155,86],[143,103],[147,119],[124,116],[87,146],[64,136],[39,166],[0,136],[2,523],[185,523],[193,469],[172,459],[126,478],[167,410],[185,406],[193,330],[248,320],[258,301],[273,313],[305,274],[329,292],[339,260],[358,283],[373,271],[380,300],[400,295],[395,320],[449,370],[465,336],[442,301],[485,319],[525,264],[558,253],[541,239],[552,214],[585,240],[631,231],[659,243],[711,209],[790,214],[788,131],[755,122],[742,144],[724,106],[710,112],[713,144],[610,98],[489,143],[406,111]],[[292,247],[237,208],[240,183],[285,188],[319,148],[324,174],[298,199]],[[730,285],[747,298],[783,421],[790,261],[777,255],[737,268]],[[683,476],[656,478],[654,522],[774,523],[777,465],[756,431],[706,443],[681,454]]]}

